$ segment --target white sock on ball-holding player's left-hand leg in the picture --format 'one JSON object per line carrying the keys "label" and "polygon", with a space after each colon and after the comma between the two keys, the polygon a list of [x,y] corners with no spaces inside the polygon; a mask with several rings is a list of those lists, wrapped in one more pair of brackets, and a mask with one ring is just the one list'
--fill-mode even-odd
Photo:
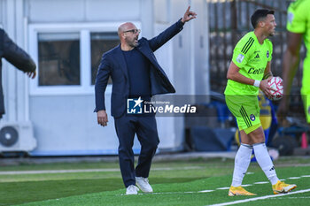
{"label": "white sock on ball-holding player's left-hand leg in the picture", "polygon": [[235,169],[231,186],[239,187],[251,162],[252,146],[241,144],[235,156]]}

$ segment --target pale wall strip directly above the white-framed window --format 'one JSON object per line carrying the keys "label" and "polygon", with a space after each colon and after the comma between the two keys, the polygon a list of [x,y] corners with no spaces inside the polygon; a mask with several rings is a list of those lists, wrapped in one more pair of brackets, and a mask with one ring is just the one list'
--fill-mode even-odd
{"label": "pale wall strip directly above the white-framed window", "polygon": [[28,0],[30,23],[140,19],[141,0]]}

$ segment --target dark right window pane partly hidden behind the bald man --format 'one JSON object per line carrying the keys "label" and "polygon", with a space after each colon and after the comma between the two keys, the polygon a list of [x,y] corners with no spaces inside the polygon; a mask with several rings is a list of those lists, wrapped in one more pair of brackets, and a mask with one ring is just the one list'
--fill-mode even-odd
{"label": "dark right window pane partly hidden behind the bald man", "polygon": [[[91,33],[91,84],[95,84],[98,65],[102,55],[120,43],[117,33]],[[109,84],[112,83],[110,78]]]}

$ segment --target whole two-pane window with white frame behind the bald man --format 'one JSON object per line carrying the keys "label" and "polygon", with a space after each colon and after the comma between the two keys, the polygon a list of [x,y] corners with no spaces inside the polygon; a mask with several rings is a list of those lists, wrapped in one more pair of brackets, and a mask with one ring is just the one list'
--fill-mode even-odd
{"label": "whole two-pane window with white frame behind the bald man", "polygon": [[[93,94],[103,53],[120,43],[120,24],[30,24],[29,53],[38,66],[37,78],[29,81],[30,95]],[[111,91],[108,85],[106,93]]]}

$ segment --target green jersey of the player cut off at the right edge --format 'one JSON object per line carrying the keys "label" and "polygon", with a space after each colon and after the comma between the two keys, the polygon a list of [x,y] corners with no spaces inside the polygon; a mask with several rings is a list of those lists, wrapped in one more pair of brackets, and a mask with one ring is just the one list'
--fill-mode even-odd
{"label": "green jersey of the player cut off at the right edge", "polygon": [[292,33],[303,34],[306,45],[306,58],[304,61],[304,71],[302,80],[302,91],[310,92],[310,0],[298,0],[290,4],[288,9],[287,30]]}

